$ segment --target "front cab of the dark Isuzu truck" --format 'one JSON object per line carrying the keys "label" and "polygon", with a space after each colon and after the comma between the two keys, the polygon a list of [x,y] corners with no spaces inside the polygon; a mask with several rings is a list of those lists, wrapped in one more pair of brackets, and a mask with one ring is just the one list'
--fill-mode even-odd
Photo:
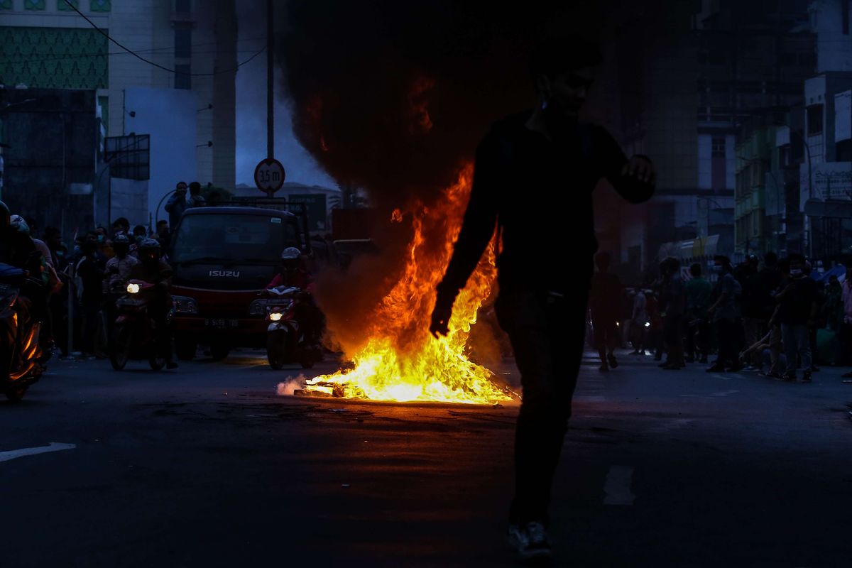
{"label": "front cab of the dark Isuzu truck", "polygon": [[199,343],[214,359],[233,347],[266,345],[265,298],[281,251],[309,241],[300,217],[261,207],[199,207],[181,216],[168,249],[174,270],[175,347],[192,359]]}

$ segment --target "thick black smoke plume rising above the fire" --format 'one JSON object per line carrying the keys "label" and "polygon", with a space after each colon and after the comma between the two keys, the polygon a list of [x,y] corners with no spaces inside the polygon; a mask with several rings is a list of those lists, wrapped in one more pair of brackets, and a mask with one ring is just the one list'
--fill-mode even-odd
{"label": "thick black smoke plume rising above the fire", "polygon": [[532,106],[530,43],[599,26],[597,3],[557,5],[290,0],[276,55],[297,139],[374,203],[428,202],[490,123]]}

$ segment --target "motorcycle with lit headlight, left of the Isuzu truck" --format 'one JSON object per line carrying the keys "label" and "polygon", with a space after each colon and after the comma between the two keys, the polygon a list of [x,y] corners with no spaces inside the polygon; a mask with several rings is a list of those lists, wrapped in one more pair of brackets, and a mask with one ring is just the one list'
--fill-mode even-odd
{"label": "motorcycle with lit headlight, left of the Isuzu truck", "polygon": [[[165,366],[165,357],[157,341],[157,324],[148,313],[148,304],[155,284],[130,280],[127,294],[116,301],[118,316],[112,328],[112,348],[109,362],[114,370],[124,369],[129,359],[144,360],[153,370]],[[170,311],[167,322],[171,321]]]}

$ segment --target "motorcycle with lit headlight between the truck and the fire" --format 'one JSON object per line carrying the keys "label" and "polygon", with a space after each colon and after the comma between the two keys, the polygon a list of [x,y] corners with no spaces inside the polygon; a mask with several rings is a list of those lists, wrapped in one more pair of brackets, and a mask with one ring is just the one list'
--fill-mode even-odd
{"label": "motorcycle with lit headlight between the truck and the fire", "polygon": [[267,359],[275,370],[285,364],[298,363],[311,369],[323,358],[322,347],[305,337],[304,325],[296,318],[296,309],[307,292],[295,286],[279,286],[267,290],[273,299],[267,302]]}

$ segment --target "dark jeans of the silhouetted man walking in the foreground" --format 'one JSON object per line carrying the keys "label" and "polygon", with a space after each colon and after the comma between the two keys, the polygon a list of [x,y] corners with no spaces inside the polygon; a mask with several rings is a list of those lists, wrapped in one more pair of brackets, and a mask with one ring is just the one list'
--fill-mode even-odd
{"label": "dark jeans of the silhouetted man walking in the foreground", "polygon": [[498,321],[509,334],[523,387],[509,522],[547,523],[550,486],[583,355],[585,313],[584,294],[559,298],[519,291],[498,297]]}

